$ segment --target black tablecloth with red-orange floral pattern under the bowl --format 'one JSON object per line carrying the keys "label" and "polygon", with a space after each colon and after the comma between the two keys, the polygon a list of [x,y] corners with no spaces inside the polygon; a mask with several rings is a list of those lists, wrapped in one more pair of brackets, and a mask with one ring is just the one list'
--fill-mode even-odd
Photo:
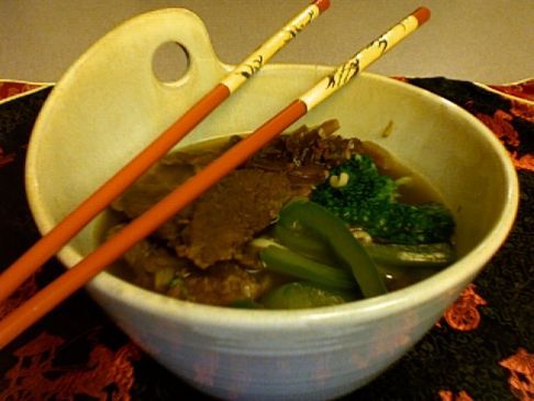
{"label": "black tablecloth with red-orange floral pattern under the bowl", "polygon": [[[398,78],[476,115],[520,179],[510,237],[435,327],[347,400],[534,400],[534,80],[483,86]],[[38,238],[24,186],[29,136],[52,85],[0,80],[0,270]],[[60,149],[58,151],[60,152]],[[0,304],[0,319],[63,271],[57,260]],[[0,400],[203,400],[79,291],[0,352]]]}

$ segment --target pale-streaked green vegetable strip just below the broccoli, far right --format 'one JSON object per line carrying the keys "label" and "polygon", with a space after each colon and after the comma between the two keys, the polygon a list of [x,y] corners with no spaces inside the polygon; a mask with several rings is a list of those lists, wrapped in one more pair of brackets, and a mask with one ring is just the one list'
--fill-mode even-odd
{"label": "pale-streaked green vegetable strip just below the broccoli, far right", "polygon": [[449,244],[371,244],[366,246],[370,257],[379,264],[402,267],[445,267],[455,260]]}

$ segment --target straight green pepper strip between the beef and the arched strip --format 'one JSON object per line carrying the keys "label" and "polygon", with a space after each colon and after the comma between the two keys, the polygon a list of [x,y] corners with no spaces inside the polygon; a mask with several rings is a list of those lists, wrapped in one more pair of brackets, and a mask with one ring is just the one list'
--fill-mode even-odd
{"label": "straight green pepper strip between the beef and the arched strip", "polygon": [[356,288],[351,272],[336,269],[279,246],[268,246],[259,253],[268,270],[309,280],[333,288]]}

